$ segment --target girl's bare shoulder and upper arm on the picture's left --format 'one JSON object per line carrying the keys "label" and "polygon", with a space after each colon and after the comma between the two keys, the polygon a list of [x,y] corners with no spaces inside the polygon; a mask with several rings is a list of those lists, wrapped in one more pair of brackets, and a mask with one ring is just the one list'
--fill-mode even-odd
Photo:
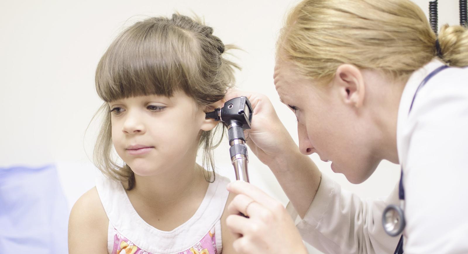
{"label": "girl's bare shoulder and upper arm on the picture's left", "polygon": [[[69,253],[81,253],[92,247],[94,253],[107,253],[109,220],[102,207],[96,187],[88,190],[73,205],[68,221]],[[85,244],[86,243],[86,244]]]}

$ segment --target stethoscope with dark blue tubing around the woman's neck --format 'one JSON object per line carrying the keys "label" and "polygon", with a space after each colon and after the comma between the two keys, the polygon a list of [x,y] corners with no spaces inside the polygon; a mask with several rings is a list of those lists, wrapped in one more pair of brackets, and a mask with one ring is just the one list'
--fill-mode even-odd
{"label": "stethoscope with dark blue tubing around the woman's neck", "polygon": [[[409,112],[411,112],[411,108],[413,107],[414,99],[416,98],[417,92],[421,87],[423,87],[429,79],[434,77],[440,71],[448,68],[448,66],[443,65],[439,68],[435,69],[429,75],[424,78],[424,80],[419,84],[417,87],[416,92],[414,93],[413,100],[411,101],[411,105],[409,106]],[[408,112],[408,114],[409,114]],[[403,168],[402,174],[400,177],[400,184],[398,187],[398,198],[400,199],[400,205],[388,205],[382,214],[382,225],[385,232],[390,236],[397,236],[403,232],[406,226],[405,215],[404,215],[404,205],[405,205],[405,190],[403,188]],[[403,253],[403,235],[400,237],[400,241],[395,249],[395,254],[402,254]]]}

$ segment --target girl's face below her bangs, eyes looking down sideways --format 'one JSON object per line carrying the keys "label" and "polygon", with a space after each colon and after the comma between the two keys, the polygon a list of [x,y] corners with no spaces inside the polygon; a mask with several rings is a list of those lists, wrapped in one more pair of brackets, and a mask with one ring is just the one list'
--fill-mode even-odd
{"label": "girl's face below her bangs, eyes looking down sideways", "polygon": [[112,142],[139,176],[154,176],[195,163],[201,130],[216,122],[184,92],[172,97],[137,96],[109,102]]}

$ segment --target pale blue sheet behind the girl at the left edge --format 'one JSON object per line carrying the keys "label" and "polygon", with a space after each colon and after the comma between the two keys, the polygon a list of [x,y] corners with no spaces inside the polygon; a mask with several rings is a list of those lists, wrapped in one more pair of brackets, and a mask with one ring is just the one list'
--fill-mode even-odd
{"label": "pale blue sheet behind the girl at the left edge", "polygon": [[0,254],[68,253],[68,216],[55,166],[0,168]]}

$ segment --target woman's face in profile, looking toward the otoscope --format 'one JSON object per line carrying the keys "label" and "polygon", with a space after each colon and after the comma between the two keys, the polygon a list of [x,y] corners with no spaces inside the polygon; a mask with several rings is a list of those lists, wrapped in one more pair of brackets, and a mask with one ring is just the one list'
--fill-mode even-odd
{"label": "woman's face in profile, looking toward the otoscope", "polygon": [[315,84],[283,61],[277,62],[274,79],[281,101],[298,119],[301,153],[317,153],[323,161],[332,161],[332,170],[351,183],[366,180],[381,159],[373,150],[375,135],[367,112],[360,107],[362,101],[358,105],[362,98],[351,94],[356,91],[334,84],[335,80],[326,87]]}

